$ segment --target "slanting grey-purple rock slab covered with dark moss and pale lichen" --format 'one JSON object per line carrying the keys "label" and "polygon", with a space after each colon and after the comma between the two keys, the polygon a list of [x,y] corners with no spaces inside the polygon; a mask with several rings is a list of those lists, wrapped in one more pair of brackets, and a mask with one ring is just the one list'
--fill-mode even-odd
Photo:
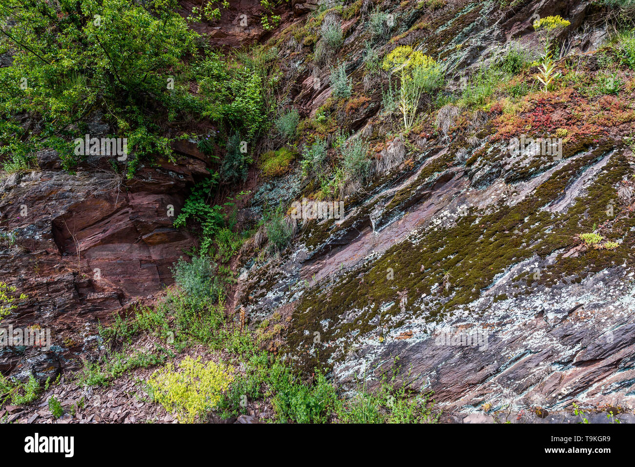
{"label": "slanting grey-purple rock slab covered with dark moss and pale lichen", "polygon": [[[512,39],[537,44],[534,13],[560,14],[575,29],[591,4],[532,1],[505,15],[494,10],[448,2],[425,27],[420,48],[448,69],[457,66],[458,76],[500,56]],[[399,16],[404,30],[417,15]],[[379,82],[362,79],[369,34],[362,24],[347,29],[343,22],[337,60],[345,60],[353,95],[372,102]],[[416,34],[385,48],[410,44]],[[573,35],[577,53],[596,45]],[[293,105],[315,115],[330,95],[328,70],[304,69],[294,58]],[[237,302],[253,323],[291,310],[273,348],[307,371],[320,360],[354,391],[400,367],[411,388],[433,390],[458,421],[484,407],[554,411],[572,400],[632,410],[635,220],[632,200],[618,199],[617,190],[631,183],[634,158],[623,138],[635,128],[633,97],[562,91],[527,98],[513,118],[493,107],[468,115],[467,124],[452,121],[447,135],[443,125],[437,133],[428,124],[410,135],[407,154],[399,147],[395,159],[408,164],[378,165],[368,186],[344,200],[344,218],[301,223],[280,258],[246,263]],[[399,131],[377,112],[361,107],[344,117],[345,126],[371,141],[378,130]],[[510,138],[526,128],[535,138],[568,129],[562,157],[512,154]],[[403,141],[383,145],[380,160],[396,145]],[[283,201],[311,194],[302,187],[296,196],[287,181],[301,178],[298,171],[279,180],[279,192],[289,187]],[[620,246],[583,246],[577,235],[596,228]]]}

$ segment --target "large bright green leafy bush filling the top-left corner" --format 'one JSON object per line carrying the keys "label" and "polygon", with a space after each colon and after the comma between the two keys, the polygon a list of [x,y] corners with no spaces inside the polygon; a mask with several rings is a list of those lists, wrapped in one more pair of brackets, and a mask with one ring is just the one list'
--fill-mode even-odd
{"label": "large bright green leafy bush filling the top-left corner", "polygon": [[[20,114],[41,120],[37,131],[15,135],[13,141],[31,151],[59,145],[60,135],[77,137],[71,126],[79,121],[81,127],[88,113],[99,109],[112,117],[120,137],[128,137],[133,159],[169,156],[170,148],[142,109],[170,101],[166,76],[195,50],[197,34],[175,5],[171,0],[147,6],[134,0],[84,0],[81,5],[60,0],[39,1],[36,8],[4,2],[0,55],[10,53],[13,62],[0,69],[0,114],[8,121]],[[135,141],[139,132],[148,136],[145,144]],[[68,143],[60,155],[67,168],[77,162]],[[14,168],[23,162],[14,160]]]}

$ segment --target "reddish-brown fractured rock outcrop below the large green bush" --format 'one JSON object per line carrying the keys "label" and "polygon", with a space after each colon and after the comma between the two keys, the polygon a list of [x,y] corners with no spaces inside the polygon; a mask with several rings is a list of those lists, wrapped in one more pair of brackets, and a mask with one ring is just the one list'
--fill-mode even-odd
{"label": "reddish-brown fractured rock outcrop below the large green bush", "polygon": [[[143,166],[128,181],[105,169],[105,157],[70,174],[55,170],[56,154],[40,154],[43,170],[4,180],[0,219],[9,237],[0,277],[28,299],[2,325],[50,327],[55,346],[44,367],[85,352],[97,320],[171,284],[170,266],[196,242],[172,222],[187,188],[208,174],[200,156]],[[10,349],[3,350],[3,372],[29,371],[23,365],[41,353]]]}

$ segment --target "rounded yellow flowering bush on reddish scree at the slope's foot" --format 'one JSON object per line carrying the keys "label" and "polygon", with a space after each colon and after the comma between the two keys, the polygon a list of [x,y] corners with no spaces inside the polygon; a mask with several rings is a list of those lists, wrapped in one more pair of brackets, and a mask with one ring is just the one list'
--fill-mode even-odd
{"label": "rounded yellow flowering bush on reddish scree at the slope's foot", "polygon": [[201,363],[185,357],[178,371],[168,363],[154,372],[148,381],[152,397],[166,411],[176,413],[181,422],[203,421],[208,412],[218,406],[234,380],[234,367],[215,362]]}

